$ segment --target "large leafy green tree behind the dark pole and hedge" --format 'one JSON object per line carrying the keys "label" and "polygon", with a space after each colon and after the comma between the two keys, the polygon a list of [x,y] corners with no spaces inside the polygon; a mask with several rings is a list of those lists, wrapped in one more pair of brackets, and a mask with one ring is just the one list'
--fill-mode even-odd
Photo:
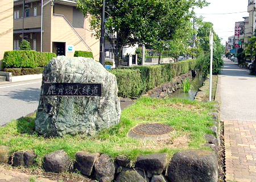
{"label": "large leafy green tree behind the dark pole and hedge", "polygon": [[[90,26],[100,37],[101,0],[78,0],[77,7],[90,16]],[[152,46],[170,40],[194,6],[205,0],[106,0],[105,37],[114,49],[115,63],[120,65],[123,46],[142,43]]]}

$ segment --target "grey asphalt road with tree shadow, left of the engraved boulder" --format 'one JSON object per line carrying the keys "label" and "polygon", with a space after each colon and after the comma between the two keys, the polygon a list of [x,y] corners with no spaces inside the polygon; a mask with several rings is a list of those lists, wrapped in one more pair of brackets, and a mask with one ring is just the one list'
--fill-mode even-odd
{"label": "grey asphalt road with tree shadow, left of the engraved boulder", "polygon": [[42,80],[0,85],[0,126],[38,109]]}

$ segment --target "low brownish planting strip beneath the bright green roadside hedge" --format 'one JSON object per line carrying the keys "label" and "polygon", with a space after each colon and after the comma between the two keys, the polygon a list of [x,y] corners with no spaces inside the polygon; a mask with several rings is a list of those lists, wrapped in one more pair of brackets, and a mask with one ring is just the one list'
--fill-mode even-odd
{"label": "low brownish planting strip beneath the bright green roadside hedge", "polygon": [[43,73],[44,67],[38,68],[5,68],[4,72],[10,72],[12,76],[34,75]]}

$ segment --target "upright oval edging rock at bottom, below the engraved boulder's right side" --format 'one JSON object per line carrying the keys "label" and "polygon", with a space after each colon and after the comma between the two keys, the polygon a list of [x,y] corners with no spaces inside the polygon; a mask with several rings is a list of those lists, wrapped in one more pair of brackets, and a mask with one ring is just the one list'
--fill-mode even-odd
{"label": "upright oval edging rock at bottom, below the engraved boulder's right side", "polygon": [[108,155],[101,154],[94,164],[94,169],[96,180],[100,182],[111,182],[114,180],[114,160],[110,159]]}

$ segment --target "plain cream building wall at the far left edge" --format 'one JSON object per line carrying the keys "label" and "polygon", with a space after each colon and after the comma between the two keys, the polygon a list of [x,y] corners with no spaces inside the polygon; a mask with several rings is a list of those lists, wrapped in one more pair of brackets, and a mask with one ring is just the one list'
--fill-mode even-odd
{"label": "plain cream building wall at the far left edge", "polygon": [[0,70],[5,51],[13,50],[13,0],[0,1]]}

